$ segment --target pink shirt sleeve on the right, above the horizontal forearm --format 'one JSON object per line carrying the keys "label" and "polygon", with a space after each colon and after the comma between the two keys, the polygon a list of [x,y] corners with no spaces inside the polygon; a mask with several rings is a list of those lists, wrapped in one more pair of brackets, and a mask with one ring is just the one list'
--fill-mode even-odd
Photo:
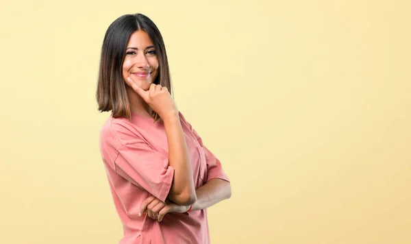
{"label": "pink shirt sleeve on the right, above the horizontal forearm", "polygon": [[201,136],[192,128],[190,123],[186,121],[184,116],[180,114],[188,128],[191,130],[192,134],[197,138],[197,141],[201,145],[201,147],[204,150],[204,153],[206,154],[206,162],[207,162],[207,182],[212,180],[212,179],[221,179],[229,182],[229,178],[225,174],[225,171],[223,169],[223,165],[221,164],[219,158],[217,158],[212,151],[210,151],[205,145],[203,145],[203,140],[201,139]]}

